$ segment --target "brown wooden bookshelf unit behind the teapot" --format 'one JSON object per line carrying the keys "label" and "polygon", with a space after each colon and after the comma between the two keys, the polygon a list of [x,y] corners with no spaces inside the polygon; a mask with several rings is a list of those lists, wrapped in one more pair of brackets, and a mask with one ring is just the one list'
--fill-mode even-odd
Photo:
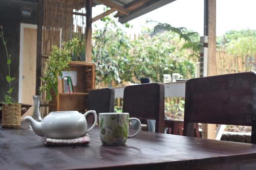
{"label": "brown wooden bookshelf unit behind the teapot", "polygon": [[[74,93],[60,92],[56,96],[52,93],[53,99],[49,103],[49,112],[87,109],[88,93],[94,89],[95,64],[83,61],[71,61],[69,63],[69,71],[76,72],[76,83],[73,84]],[[67,70],[66,70],[67,71]],[[60,81],[58,80],[58,83]],[[74,83],[74,82],[73,82]],[[61,88],[63,90],[63,87]]]}

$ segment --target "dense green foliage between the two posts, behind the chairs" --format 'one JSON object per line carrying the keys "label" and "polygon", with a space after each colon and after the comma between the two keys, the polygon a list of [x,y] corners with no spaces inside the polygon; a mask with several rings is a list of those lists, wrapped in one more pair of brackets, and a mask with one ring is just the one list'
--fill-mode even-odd
{"label": "dense green foliage between the two posts, behind the chairs", "polygon": [[[201,44],[195,41],[199,39],[198,34],[184,31],[178,34],[176,31],[157,34],[153,38],[143,35],[131,40],[123,31],[124,26],[110,17],[103,18],[103,21],[105,27],[93,34],[92,59],[96,63],[96,83],[138,82],[141,77],[162,82],[163,74],[173,72],[179,72],[184,78],[194,76],[194,62],[190,57],[199,54]],[[185,48],[192,49],[192,52]]]}

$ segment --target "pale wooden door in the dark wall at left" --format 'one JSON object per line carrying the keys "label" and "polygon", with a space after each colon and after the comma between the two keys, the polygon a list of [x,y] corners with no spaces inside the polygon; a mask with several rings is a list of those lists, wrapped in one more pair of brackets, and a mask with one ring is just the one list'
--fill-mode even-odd
{"label": "pale wooden door in the dark wall at left", "polygon": [[[21,27],[23,35],[20,34],[20,66],[22,67],[22,74],[20,74],[20,83],[22,83],[19,94],[21,97],[20,101],[24,104],[33,105],[32,96],[35,95],[36,87],[36,40],[37,40],[37,29],[33,27],[26,28]],[[22,32],[22,31],[21,31]],[[22,37],[23,36],[23,37]],[[24,116],[33,114],[33,107],[31,107]],[[23,116],[23,117],[24,117]]]}

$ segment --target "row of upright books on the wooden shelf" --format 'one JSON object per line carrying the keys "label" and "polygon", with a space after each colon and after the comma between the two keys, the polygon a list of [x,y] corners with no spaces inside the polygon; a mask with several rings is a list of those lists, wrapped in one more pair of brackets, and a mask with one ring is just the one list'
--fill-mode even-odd
{"label": "row of upright books on the wooden shelf", "polygon": [[60,93],[73,93],[74,87],[70,76],[59,78],[59,92]]}

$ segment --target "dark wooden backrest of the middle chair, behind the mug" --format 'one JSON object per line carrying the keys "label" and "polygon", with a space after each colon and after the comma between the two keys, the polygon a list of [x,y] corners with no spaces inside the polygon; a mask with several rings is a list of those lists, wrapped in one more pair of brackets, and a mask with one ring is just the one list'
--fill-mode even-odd
{"label": "dark wooden backrest of the middle chair, behind the mug", "polygon": [[125,87],[123,112],[139,119],[155,119],[155,131],[164,133],[164,85],[148,83]]}

